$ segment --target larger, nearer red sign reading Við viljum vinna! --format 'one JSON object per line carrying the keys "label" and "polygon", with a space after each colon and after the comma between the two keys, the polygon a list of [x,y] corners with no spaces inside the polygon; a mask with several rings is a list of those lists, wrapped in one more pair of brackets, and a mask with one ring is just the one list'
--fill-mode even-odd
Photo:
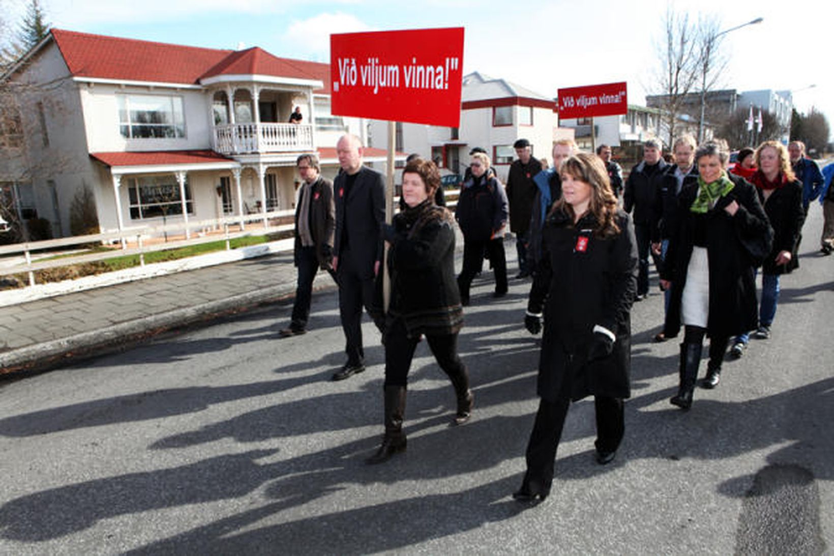
{"label": "larger, nearer red sign reading Vi\u00f0 viljum vinna!", "polygon": [[330,35],[334,115],[460,124],[464,29]]}

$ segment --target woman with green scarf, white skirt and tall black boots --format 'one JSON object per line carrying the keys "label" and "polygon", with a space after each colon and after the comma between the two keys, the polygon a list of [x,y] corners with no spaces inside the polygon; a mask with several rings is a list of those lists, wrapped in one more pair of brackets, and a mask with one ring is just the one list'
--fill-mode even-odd
{"label": "woman with green scarf, white skirt and tall black boots", "polygon": [[661,268],[661,286],[672,291],[666,336],[676,336],[684,325],[678,393],[670,400],[681,409],[692,405],[704,336],[710,336],[704,387],[711,388],[718,384],[730,336],[756,326],[754,272],[773,235],[753,186],[726,173],[726,149],[706,143],[695,157],[699,176],[678,196]]}

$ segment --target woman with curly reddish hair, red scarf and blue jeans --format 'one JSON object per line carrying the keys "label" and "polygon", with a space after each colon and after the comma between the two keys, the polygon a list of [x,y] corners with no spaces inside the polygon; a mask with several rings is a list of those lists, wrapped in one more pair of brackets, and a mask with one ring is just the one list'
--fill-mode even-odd
{"label": "woman with curly reddish hair, red scarf and blue jeans", "polygon": [[[773,228],[773,247],[761,265],[761,304],[756,337],[771,337],[771,325],[779,301],[779,276],[799,266],[797,250],[805,212],[802,210],[802,182],[796,179],[785,145],[766,141],[756,149],[756,173],[750,177],[756,186],[759,201],[765,207],[767,220]],[[740,357],[749,335],[736,337],[731,353]]]}

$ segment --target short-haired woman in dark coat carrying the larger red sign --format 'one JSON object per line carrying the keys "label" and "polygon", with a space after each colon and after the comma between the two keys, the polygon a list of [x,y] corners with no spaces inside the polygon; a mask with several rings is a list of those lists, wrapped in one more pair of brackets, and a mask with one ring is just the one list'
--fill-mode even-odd
{"label": "short-haired woman in dark coat carrying the larger red sign", "polygon": [[455,387],[455,424],[470,418],[475,398],[458,356],[463,309],[455,283],[455,219],[434,203],[440,187],[435,163],[413,159],[403,170],[406,208],[384,225],[390,245],[391,293],[385,319],[384,426],[382,445],[368,463],[381,463],[405,450],[405,390],[414,349],[424,335],[438,365]]}

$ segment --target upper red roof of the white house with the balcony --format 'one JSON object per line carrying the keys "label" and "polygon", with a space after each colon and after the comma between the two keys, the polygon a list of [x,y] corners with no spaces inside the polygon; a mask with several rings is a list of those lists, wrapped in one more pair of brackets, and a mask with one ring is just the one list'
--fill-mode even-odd
{"label": "upper red roof of the white house with the balcony", "polygon": [[198,84],[223,74],[319,79],[330,92],[327,63],[278,58],[262,48],[243,51],[153,43],[52,29],[55,43],[75,77]]}

